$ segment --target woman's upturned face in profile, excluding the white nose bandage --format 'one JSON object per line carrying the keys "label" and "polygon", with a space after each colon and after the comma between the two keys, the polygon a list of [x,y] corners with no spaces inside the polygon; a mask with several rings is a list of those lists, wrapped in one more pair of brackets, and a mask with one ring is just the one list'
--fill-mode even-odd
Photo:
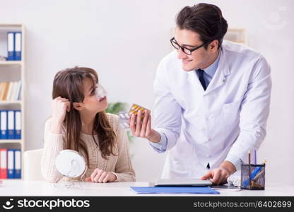
{"label": "woman's upturned face in profile, excluding the white nose bandage", "polygon": [[96,86],[90,78],[83,79],[83,90],[85,99],[83,100],[83,110],[89,112],[101,112],[107,108],[107,97],[98,97],[96,95]]}

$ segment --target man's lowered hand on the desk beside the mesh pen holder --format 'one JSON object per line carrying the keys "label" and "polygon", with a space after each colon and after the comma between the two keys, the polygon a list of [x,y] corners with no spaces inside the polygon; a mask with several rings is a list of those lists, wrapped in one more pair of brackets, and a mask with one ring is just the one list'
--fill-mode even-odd
{"label": "man's lowered hand on the desk beside the mesh pen holder", "polygon": [[228,177],[235,171],[235,165],[225,160],[220,164],[220,167],[210,170],[206,175],[201,177],[201,179],[211,179],[213,184],[224,184],[227,182]]}

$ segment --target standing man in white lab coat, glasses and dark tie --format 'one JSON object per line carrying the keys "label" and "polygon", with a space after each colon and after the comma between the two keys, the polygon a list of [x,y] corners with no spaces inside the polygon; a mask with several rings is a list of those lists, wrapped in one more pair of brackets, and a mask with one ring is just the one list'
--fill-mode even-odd
{"label": "standing man in white lab coat, glasses and dark tie", "polygon": [[139,113],[130,128],[155,151],[168,151],[163,178],[221,184],[266,136],[270,67],[253,49],[223,40],[228,24],[217,6],[186,6],[176,23],[176,51],[155,76],[155,127]]}

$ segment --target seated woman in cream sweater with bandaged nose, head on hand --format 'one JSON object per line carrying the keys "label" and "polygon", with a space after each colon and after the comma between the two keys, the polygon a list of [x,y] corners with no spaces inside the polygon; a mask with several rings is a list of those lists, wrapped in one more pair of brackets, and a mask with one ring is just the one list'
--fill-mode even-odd
{"label": "seated woman in cream sweater with bandaged nose, head on hand", "polygon": [[45,124],[42,175],[57,182],[61,175],[55,158],[64,149],[81,153],[87,170],[83,180],[91,182],[135,181],[126,131],[119,118],[106,114],[107,97],[90,68],[59,71],[53,82],[52,117]]}

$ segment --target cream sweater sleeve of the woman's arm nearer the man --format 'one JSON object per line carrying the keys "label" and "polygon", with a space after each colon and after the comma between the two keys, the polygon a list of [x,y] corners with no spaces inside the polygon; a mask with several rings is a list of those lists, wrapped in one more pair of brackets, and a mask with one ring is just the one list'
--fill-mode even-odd
{"label": "cream sweater sleeve of the woman's arm nearer the man", "polygon": [[129,154],[129,139],[127,132],[121,126],[118,126],[117,129],[117,148],[118,158],[114,172],[114,175],[117,176],[116,181],[135,181],[135,172]]}

